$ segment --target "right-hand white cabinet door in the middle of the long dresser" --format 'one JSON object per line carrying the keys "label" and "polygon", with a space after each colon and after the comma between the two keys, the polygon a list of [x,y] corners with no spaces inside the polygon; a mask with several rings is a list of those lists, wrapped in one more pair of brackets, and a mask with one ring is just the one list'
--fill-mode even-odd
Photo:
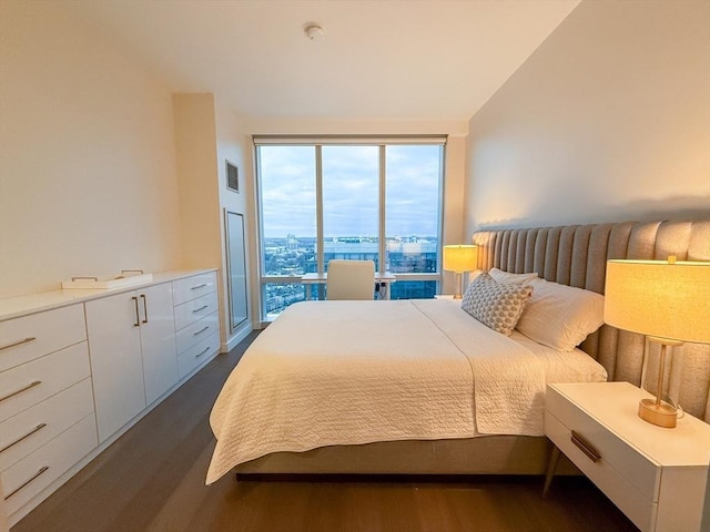
{"label": "right-hand white cabinet door in the middle of the long dresser", "polygon": [[173,290],[170,283],[139,294],[145,399],[151,405],[178,382]]}

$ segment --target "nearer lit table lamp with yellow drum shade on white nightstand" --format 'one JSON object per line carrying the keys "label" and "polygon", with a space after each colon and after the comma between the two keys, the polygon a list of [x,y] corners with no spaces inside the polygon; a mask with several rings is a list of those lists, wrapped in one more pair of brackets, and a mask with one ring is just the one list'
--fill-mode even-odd
{"label": "nearer lit table lamp with yellow drum shade on white nightstand", "polygon": [[[656,389],[647,388],[656,399],[641,400],[639,417],[659,427],[676,427],[678,407],[663,397],[667,349],[684,341],[710,344],[710,262],[680,262],[673,256],[668,260],[608,260],[605,293],[607,324],[646,335],[649,347],[660,345],[658,375],[651,376]],[[649,358],[647,349],[645,375],[650,370]]]}

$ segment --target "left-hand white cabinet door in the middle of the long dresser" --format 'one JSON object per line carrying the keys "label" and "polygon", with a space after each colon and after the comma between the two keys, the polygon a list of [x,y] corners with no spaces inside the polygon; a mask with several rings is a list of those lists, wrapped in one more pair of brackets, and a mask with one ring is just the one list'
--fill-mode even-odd
{"label": "left-hand white cabinet door in the middle of the long dresser", "polygon": [[138,293],[85,303],[99,441],[145,408]]}

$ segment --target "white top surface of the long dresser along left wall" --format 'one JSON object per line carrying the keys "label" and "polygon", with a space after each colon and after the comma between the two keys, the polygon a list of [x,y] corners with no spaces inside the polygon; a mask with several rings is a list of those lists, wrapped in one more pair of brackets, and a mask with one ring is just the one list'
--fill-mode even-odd
{"label": "white top surface of the long dresser along left wall", "polygon": [[[30,314],[51,310],[53,308],[65,307],[75,303],[89,301],[100,297],[106,297],[123,291],[132,291],[141,286],[159,285],[161,283],[170,283],[172,280],[182,279],[193,275],[206,272],[216,272],[216,268],[206,269],[183,269],[172,272],[160,272],[153,274],[153,279],[142,285],[132,285],[123,288],[113,289],[88,289],[88,290],[51,290],[38,294],[28,294],[27,296],[10,297],[0,299],[0,321],[6,319],[19,318]],[[59,284],[61,286],[61,283]]]}

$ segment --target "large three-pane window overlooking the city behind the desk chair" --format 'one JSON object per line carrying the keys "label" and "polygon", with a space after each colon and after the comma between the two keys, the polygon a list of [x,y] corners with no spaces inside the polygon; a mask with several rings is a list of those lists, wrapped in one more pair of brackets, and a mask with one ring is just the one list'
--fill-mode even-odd
{"label": "large three-pane window overlooking the city behind the desk chair", "polygon": [[305,299],[298,276],[333,258],[396,274],[393,299],[436,294],[444,139],[254,142],[263,319]]}

